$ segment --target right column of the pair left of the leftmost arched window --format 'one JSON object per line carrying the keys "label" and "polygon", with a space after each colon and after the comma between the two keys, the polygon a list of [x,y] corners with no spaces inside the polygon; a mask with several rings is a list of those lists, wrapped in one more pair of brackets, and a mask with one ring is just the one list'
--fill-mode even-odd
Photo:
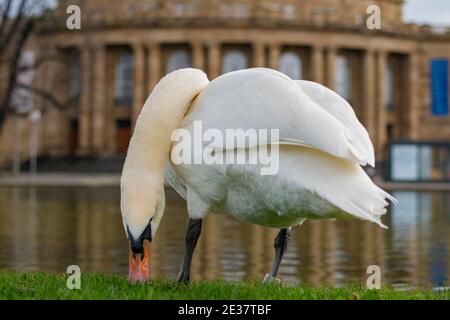
{"label": "right column of the pair left of the leftmost arched window", "polygon": [[106,49],[104,46],[95,48],[94,105],[92,116],[92,142],[93,151],[99,155],[105,152],[106,135]]}

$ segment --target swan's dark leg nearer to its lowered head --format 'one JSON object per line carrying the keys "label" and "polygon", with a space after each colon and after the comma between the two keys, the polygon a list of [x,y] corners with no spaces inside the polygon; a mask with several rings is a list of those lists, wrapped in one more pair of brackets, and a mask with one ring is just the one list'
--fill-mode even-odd
{"label": "swan's dark leg nearer to its lowered head", "polygon": [[189,219],[186,229],[186,252],[181,264],[180,273],[178,274],[178,282],[189,282],[191,280],[191,262],[194,255],[197,240],[202,231],[202,219]]}

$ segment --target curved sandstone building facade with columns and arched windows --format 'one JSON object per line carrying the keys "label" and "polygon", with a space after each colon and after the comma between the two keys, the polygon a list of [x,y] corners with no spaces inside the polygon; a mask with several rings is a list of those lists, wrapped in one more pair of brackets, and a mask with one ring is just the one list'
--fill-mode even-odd
{"label": "curved sandstone building facade with columns and arched windows", "polygon": [[[72,4],[81,8],[81,30],[67,29]],[[374,4],[379,30],[367,26]],[[34,81],[56,83],[58,96],[73,99],[67,109],[46,108],[39,153],[124,154],[152,87],[187,66],[205,70],[210,80],[270,67],[323,83],[352,104],[378,160],[389,141],[450,141],[448,102],[433,109],[445,83],[432,83],[444,81],[432,77],[432,65],[450,60],[450,31],[405,24],[402,6],[402,0],[61,0],[33,50],[64,54],[64,63],[40,67]],[[29,126],[21,130],[26,137]],[[0,137],[3,165],[13,131],[10,119]]]}

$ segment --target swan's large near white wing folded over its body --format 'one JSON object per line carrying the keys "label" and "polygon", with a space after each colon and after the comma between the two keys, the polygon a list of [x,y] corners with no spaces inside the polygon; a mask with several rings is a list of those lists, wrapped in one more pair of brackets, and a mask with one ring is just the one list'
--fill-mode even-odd
{"label": "swan's large near white wing folded over its body", "polygon": [[[354,141],[343,122],[289,77],[271,69],[231,72],[210,82],[193,102],[182,127],[194,132],[195,121],[200,121],[203,131],[223,134],[229,129],[265,129],[271,143],[309,146],[361,165],[372,163],[367,148]],[[272,129],[278,130],[278,137],[270,135]],[[223,148],[222,141],[207,144]],[[236,147],[254,145],[238,140]]]}

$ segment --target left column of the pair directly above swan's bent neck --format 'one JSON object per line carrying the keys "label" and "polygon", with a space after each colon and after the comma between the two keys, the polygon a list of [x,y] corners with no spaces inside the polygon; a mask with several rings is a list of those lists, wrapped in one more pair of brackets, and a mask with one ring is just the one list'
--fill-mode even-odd
{"label": "left column of the pair directly above swan's bent neck", "polygon": [[142,105],[145,100],[145,92],[147,85],[145,83],[145,48],[142,44],[135,44],[133,46],[134,52],[134,83],[133,83],[133,112],[132,122],[133,127],[136,119],[141,112]]}

